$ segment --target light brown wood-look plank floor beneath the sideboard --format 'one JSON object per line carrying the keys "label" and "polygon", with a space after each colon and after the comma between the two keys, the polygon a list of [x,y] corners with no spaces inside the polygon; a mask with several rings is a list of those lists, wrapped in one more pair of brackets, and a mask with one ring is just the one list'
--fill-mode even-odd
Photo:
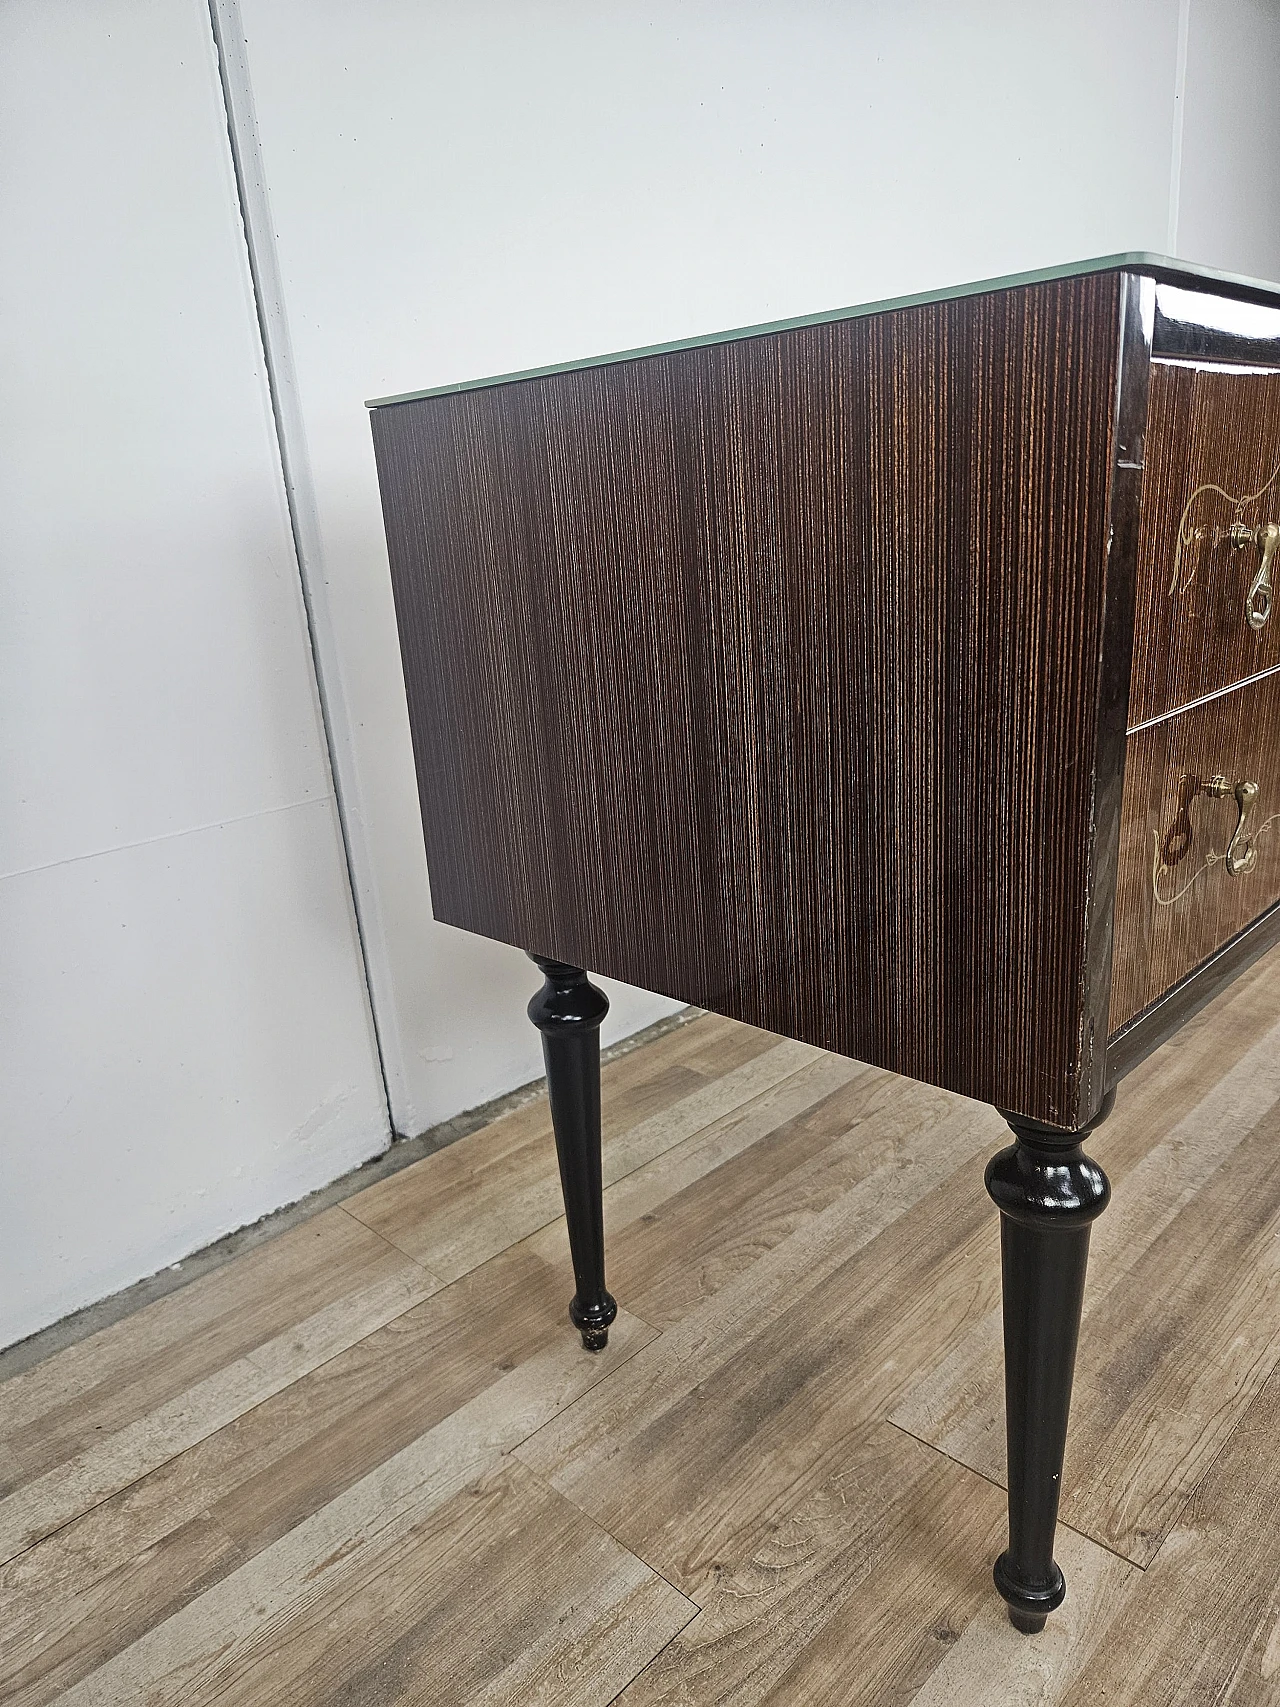
{"label": "light brown wood-look plank floor beneath the sideboard", "polygon": [[1280,1702],[1280,958],[1123,1086],[1014,1634],[992,1110],[710,1016],[0,1386],[0,1700]]}

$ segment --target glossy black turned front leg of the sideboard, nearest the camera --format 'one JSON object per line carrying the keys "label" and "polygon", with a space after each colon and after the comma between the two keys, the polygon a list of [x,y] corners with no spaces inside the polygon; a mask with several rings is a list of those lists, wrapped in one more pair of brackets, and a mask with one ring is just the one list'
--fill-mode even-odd
{"label": "glossy black turned front leg of the sideboard, nearest the camera", "polygon": [[1017,1144],[986,1164],[986,1190],[1000,1210],[1009,1436],[1009,1550],[995,1562],[995,1586],[1027,1635],[1044,1628],[1067,1594],[1053,1562],[1062,1454],[1089,1226],[1111,1197],[1106,1174],[1080,1144],[1111,1113],[1113,1099],[1080,1132],[1005,1115]]}

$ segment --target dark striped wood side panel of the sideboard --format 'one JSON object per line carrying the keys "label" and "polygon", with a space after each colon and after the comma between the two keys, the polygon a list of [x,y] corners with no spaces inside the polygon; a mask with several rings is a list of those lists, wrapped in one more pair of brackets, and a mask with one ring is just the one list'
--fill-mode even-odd
{"label": "dark striped wood side panel of the sideboard", "polygon": [[437,918],[1073,1123],[1120,294],[377,410]]}

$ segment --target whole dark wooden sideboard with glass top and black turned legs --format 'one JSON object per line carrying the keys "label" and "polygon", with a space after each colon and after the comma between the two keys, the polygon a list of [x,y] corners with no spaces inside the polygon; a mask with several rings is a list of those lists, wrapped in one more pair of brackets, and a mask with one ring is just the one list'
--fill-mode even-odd
{"label": "whole dark wooden sideboard with glass top and black turned legs", "polygon": [[993,1103],[1041,1628],[1082,1139],[1280,937],[1280,290],[1111,256],[372,410],[435,917],[543,966],[584,1342],[582,968]]}

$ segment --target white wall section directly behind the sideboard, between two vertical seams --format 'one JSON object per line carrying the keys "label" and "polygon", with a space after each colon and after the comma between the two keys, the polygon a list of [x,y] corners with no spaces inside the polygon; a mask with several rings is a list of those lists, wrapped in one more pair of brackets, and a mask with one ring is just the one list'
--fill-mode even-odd
{"label": "white wall section directly behind the sideboard, between two vertical seams", "polygon": [[416,1130],[536,1072],[536,1038],[522,958],[430,918],[362,399],[1162,249],[1178,0],[218,5],[258,109],[305,568]]}

